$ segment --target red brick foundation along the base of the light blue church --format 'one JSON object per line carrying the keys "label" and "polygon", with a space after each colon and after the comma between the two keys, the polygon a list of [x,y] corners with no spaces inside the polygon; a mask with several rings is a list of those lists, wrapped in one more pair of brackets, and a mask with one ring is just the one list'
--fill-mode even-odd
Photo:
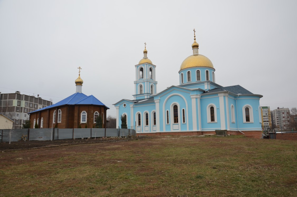
{"label": "red brick foundation along the base of the light blue church", "polygon": [[[262,138],[262,131],[243,131],[248,138]],[[203,134],[216,134],[215,131],[187,131],[187,132],[156,132],[156,133],[137,133],[136,135],[148,136],[162,136],[162,135],[203,135]],[[227,131],[228,135],[244,135],[239,131]],[[296,135],[297,136],[297,135]]]}

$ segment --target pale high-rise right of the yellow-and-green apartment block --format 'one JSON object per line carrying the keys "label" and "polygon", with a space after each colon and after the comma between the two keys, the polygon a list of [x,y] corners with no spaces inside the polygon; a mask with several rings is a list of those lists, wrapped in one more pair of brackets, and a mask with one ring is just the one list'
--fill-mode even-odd
{"label": "pale high-rise right of the yellow-and-green apartment block", "polygon": [[272,111],[273,124],[282,129],[287,129],[290,122],[290,110],[289,108],[277,108]]}

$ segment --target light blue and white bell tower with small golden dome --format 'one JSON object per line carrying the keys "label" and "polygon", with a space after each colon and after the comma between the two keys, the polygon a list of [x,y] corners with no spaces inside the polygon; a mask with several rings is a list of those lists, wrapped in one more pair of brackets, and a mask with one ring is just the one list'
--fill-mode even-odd
{"label": "light blue and white bell tower with small golden dome", "polygon": [[146,42],[144,43],[143,59],[135,65],[134,99],[145,99],[157,93],[156,66],[147,57]]}

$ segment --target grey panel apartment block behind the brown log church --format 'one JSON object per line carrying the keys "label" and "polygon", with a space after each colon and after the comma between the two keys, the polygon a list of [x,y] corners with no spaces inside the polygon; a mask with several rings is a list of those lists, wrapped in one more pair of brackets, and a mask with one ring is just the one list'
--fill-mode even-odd
{"label": "grey panel apartment block behind the brown log church", "polygon": [[49,100],[44,100],[39,95],[29,96],[15,93],[1,94],[0,92],[0,113],[14,121],[13,128],[21,129],[25,120],[29,120],[29,112],[52,105]]}

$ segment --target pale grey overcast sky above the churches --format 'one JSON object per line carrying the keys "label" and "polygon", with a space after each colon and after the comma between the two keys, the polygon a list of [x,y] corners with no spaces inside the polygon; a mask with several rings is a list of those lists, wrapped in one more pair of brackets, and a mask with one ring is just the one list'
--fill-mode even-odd
{"label": "pale grey overcast sky above the churches", "polygon": [[133,99],[135,64],[156,65],[158,92],[199,53],[216,83],[261,94],[260,105],[297,107],[297,1],[0,0],[0,92],[40,94],[56,103],[82,92],[112,104]]}

